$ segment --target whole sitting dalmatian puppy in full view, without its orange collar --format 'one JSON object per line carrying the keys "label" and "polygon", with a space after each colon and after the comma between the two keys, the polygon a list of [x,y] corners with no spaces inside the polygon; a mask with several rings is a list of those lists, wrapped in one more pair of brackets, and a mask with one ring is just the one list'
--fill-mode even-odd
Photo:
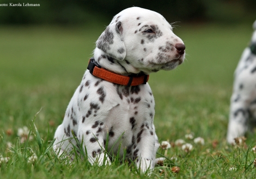
{"label": "whole sitting dalmatian puppy in full view, without its orange collar", "polygon": [[[111,73],[136,77],[174,69],[184,58],[184,43],[162,15],[132,7],[113,17],[96,41],[91,60]],[[56,130],[53,149],[59,156],[74,159],[71,151],[80,143],[92,164],[109,164],[111,156],[119,154],[142,172],[151,171],[160,146],[154,108],[154,97],[145,81],[120,85],[87,70]],[[104,151],[109,154],[107,159]]]}

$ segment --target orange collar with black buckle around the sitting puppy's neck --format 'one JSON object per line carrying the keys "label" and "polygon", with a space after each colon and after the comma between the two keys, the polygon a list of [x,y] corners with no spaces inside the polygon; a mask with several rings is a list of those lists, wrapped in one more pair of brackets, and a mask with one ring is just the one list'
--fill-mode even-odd
{"label": "orange collar with black buckle around the sitting puppy's neck", "polygon": [[90,58],[87,69],[89,69],[90,74],[119,85],[137,86],[147,84],[147,81],[149,80],[149,75],[145,74],[141,76],[124,76],[109,72],[106,69],[101,68],[101,66],[94,60],[94,58]]}

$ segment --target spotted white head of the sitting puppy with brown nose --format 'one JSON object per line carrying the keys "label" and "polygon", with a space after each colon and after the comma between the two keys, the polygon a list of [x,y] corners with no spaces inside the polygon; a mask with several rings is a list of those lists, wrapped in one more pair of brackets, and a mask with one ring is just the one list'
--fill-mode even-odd
{"label": "spotted white head of the sitting puppy with brown nose", "polygon": [[185,45],[172,25],[159,13],[138,7],[115,15],[96,48],[144,73],[173,69],[185,58]]}

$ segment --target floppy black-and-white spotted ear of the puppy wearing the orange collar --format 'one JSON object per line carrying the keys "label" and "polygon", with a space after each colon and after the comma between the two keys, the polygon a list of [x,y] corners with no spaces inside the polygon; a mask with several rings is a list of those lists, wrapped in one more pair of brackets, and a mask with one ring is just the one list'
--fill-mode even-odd
{"label": "floppy black-and-white spotted ear of the puppy wearing the orange collar", "polygon": [[126,49],[120,29],[120,21],[109,24],[96,41],[96,47],[114,59],[124,60],[126,56]]}

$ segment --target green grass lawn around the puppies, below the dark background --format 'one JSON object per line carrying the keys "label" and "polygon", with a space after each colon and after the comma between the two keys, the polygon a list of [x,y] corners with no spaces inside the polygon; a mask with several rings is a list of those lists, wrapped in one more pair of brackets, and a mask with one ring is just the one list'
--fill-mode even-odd
{"label": "green grass lawn around the puppies, below the dark background", "polygon": [[[54,155],[54,131],[104,25],[0,27],[0,154],[9,157],[1,164],[0,178],[254,178],[254,135],[248,133],[246,148],[225,142],[233,73],[250,40],[251,24],[179,23],[174,33],[185,41],[186,61],[174,71],[150,75],[159,140],[184,139],[193,145],[188,154],[178,146],[168,149],[164,166],[150,177],[119,159],[98,167],[79,159],[69,165]],[[25,144],[17,136],[23,126],[33,136]],[[185,139],[188,133],[203,137],[205,144]],[[13,148],[7,149],[8,142]],[[28,163],[34,153],[38,159]],[[173,156],[178,160],[169,160]],[[171,171],[173,166],[180,167],[179,174]]]}

